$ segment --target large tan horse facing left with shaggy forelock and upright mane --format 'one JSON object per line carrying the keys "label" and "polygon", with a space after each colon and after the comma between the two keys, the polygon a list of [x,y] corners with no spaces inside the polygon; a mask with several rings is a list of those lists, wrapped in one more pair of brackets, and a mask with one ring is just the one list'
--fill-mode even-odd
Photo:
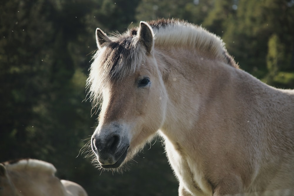
{"label": "large tan horse facing left with shaggy forelock and upright mane", "polygon": [[294,195],[293,90],[243,71],[220,37],[178,19],[97,28],[96,44],[86,88],[100,110],[98,167],[122,170],[159,134],[179,195]]}

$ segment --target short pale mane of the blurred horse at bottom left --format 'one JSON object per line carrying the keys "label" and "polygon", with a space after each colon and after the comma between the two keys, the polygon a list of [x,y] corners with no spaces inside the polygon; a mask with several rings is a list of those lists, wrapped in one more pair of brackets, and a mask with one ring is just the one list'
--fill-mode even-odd
{"label": "short pale mane of the blurred horse at bottom left", "polygon": [[18,160],[10,160],[3,163],[8,170],[35,170],[42,171],[49,174],[55,174],[56,168],[51,163],[36,160],[36,159],[18,159]]}

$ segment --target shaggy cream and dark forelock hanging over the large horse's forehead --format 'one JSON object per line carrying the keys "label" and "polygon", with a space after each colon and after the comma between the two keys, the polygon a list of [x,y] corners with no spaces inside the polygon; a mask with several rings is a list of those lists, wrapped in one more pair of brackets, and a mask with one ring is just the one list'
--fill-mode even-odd
{"label": "shaggy cream and dark forelock hanging over the large horse's forehead", "polygon": [[[102,99],[103,86],[108,82],[117,82],[140,68],[145,58],[145,49],[136,34],[116,35],[111,43],[105,44],[93,57],[87,79],[88,98],[93,107]],[[103,85],[102,85],[103,84]]]}

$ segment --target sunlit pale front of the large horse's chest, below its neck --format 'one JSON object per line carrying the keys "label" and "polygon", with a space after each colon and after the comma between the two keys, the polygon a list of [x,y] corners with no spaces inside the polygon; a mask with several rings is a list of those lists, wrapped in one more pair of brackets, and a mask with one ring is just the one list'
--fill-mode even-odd
{"label": "sunlit pale front of the large horse's chest, below its neck", "polygon": [[165,141],[168,160],[173,168],[181,186],[189,190],[193,195],[212,195],[212,187],[204,178],[201,168],[184,154],[180,145],[173,145]]}

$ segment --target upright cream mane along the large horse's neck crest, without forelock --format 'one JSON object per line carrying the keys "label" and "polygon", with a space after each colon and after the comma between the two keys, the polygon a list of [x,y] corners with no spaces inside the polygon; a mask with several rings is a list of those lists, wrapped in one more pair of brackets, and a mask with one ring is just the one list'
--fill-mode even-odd
{"label": "upright cream mane along the large horse's neck crest, without forelock", "polygon": [[214,56],[216,59],[239,68],[233,57],[228,54],[223,40],[201,26],[183,20],[161,19],[149,21],[155,34],[155,46],[191,47]]}

